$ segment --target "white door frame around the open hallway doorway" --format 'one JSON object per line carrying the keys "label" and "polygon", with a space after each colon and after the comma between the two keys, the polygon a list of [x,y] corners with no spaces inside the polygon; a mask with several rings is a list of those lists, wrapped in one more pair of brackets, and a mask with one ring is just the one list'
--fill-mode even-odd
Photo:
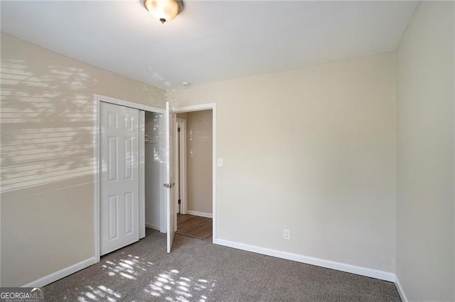
{"label": "white door frame around the open hallway doorway", "polygon": [[172,107],[173,113],[212,110],[212,242],[216,244],[216,104],[200,104],[193,106]]}

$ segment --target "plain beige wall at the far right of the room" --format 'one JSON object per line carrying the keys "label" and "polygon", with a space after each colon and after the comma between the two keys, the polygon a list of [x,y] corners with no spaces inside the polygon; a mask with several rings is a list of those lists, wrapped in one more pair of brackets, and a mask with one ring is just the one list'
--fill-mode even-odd
{"label": "plain beige wall at the far right of the room", "polygon": [[397,50],[397,276],[455,300],[454,3],[421,2]]}

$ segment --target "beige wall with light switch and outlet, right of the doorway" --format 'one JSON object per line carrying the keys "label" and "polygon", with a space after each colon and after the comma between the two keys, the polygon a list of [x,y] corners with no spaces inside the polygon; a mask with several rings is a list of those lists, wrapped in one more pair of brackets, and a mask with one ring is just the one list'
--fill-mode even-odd
{"label": "beige wall with light switch and outlet, right of the doorway", "polygon": [[218,238],[395,272],[395,53],[169,98],[216,103]]}

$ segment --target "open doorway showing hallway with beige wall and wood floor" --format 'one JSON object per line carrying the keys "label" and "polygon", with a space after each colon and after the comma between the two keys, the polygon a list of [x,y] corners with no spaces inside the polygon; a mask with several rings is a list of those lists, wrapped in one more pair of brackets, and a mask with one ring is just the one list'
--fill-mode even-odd
{"label": "open doorway showing hallway with beige wall and wood floor", "polygon": [[[185,110],[187,109],[187,110]],[[214,108],[176,113],[176,233],[215,242]]]}

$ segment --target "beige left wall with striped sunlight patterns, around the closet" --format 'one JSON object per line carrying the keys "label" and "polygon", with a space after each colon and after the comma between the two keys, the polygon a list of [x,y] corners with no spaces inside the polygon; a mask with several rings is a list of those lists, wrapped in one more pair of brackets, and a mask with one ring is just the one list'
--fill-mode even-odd
{"label": "beige left wall with striped sunlight patterns, around the closet", "polygon": [[93,257],[93,94],[165,91],[1,34],[1,285]]}

